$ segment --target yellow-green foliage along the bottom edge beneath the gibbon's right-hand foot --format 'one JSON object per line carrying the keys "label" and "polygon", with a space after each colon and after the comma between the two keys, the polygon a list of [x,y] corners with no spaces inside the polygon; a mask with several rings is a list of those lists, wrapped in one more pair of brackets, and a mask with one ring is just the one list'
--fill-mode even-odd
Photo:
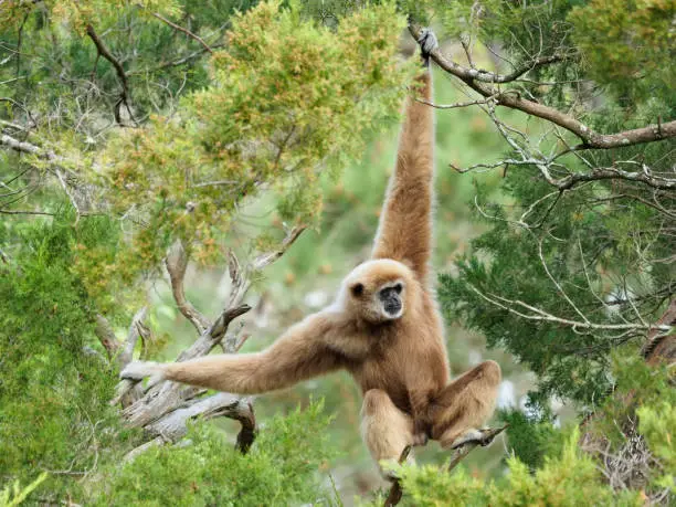
{"label": "yellow-green foliage along the bottom edge beneath the gibbon's right-hand foot", "polygon": [[426,506],[578,506],[642,505],[636,493],[615,493],[603,484],[593,461],[578,447],[579,433],[570,432],[566,445],[532,474],[516,457],[507,461],[505,478],[485,482],[464,468],[448,474],[435,466],[400,469],[406,492],[401,505]]}

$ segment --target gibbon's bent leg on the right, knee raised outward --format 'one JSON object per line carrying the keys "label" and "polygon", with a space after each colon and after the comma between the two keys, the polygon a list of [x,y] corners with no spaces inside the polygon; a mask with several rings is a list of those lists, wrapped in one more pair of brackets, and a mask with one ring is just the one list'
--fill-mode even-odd
{"label": "gibbon's bent leg on the right, knee raised outward", "polygon": [[466,371],[446,385],[430,408],[432,439],[443,448],[458,439],[473,440],[495,410],[500,367],[486,361]]}

